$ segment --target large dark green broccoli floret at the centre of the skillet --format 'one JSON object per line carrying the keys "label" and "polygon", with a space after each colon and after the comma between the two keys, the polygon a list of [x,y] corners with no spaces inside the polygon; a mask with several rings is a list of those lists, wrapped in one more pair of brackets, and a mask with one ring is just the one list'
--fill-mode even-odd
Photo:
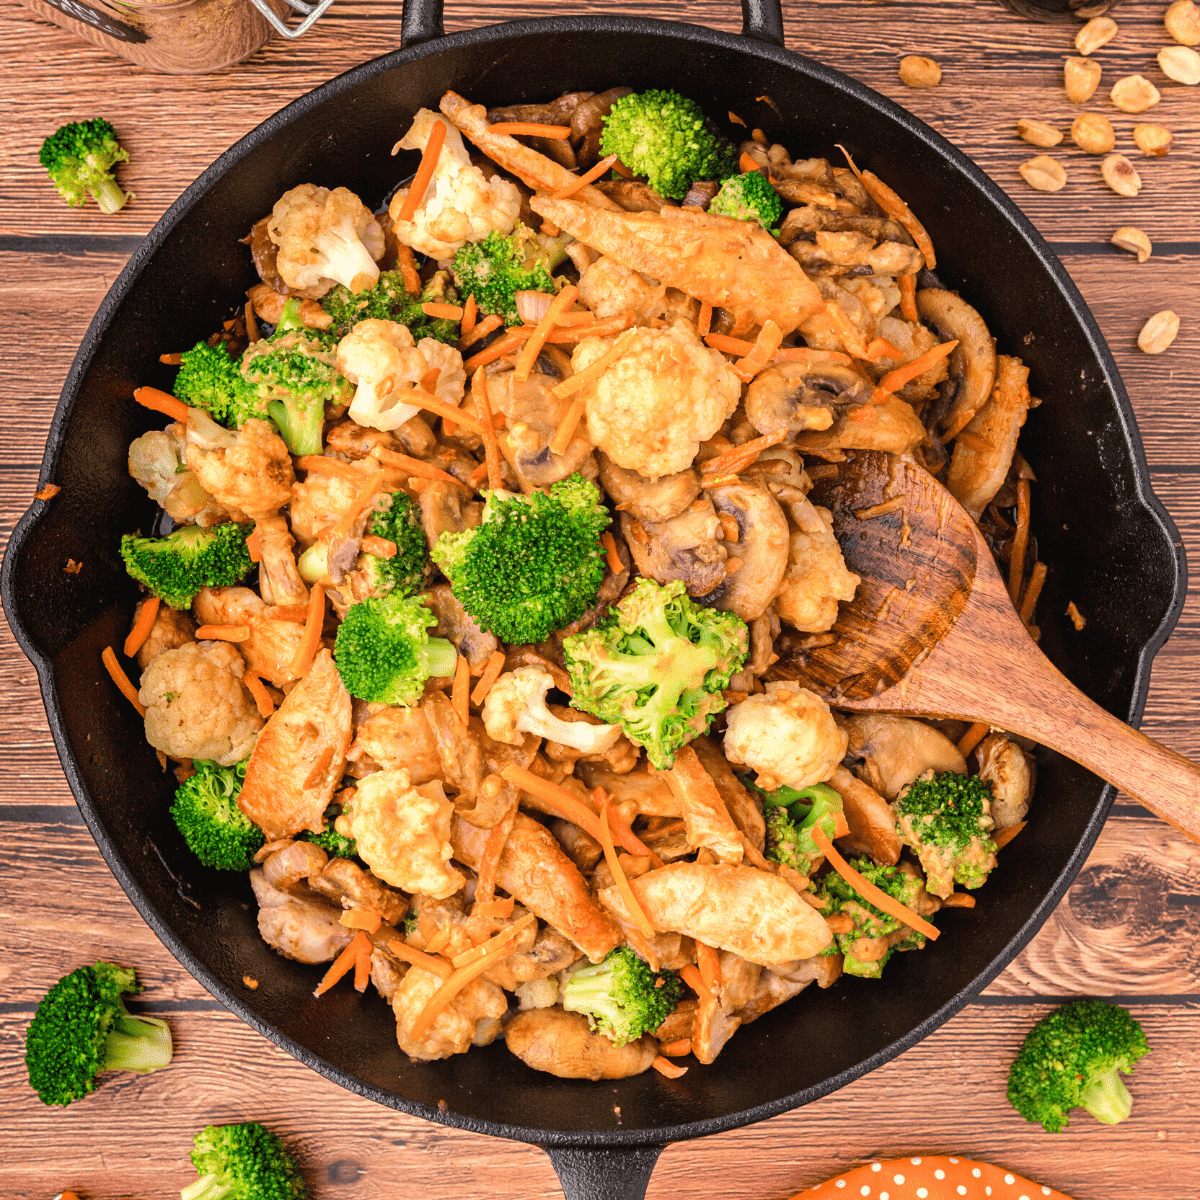
{"label": "large dark green broccoli floret at the centre of the skillet", "polygon": [[608,521],[599,488],[581,475],[548,496],[490,492],[482,523],[443,534],[433,562],[481,628],[510,646],[540,642],[595,601]]}

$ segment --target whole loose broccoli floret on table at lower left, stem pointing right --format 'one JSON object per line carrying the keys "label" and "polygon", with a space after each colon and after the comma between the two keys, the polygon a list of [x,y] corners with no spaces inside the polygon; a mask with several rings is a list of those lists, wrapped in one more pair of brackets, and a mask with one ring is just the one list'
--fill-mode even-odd
{"label": "whole loose broccoli floret on table at lower left, stem pointing right", "polygon": [[132,967],[97,962],[64,976],[37,1006],[25,1034],[29,1082],[43,1104],[70,1104],[96,1090],[102,1070],[158,1070],[170,1062],[170,1028],[133,1016],[124,995],[140,991]]}

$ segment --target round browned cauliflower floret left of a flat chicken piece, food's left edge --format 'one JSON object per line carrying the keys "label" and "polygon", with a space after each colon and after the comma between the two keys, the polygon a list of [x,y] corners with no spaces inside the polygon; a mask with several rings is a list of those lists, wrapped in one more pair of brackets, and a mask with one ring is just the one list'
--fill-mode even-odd
{"label": "round browned cauliflower floret left of a flat chicken piece, food's left edge", "polygon": [[241,762],[263,727],[246,671],[228,642],[188,642],[163,650],[142,674],[138,700],[146,709],[146,742],[172,758]]}

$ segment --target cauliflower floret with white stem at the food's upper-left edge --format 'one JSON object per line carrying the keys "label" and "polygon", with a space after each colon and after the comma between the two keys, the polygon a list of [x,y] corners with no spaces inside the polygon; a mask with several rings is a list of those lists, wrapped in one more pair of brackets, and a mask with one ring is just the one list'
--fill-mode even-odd
{"label": "cauliflower floret with white stem at the food's upper-left edge", "polygon": [[379,282],[383,227],[347,187],[293,187],[275,202],[266,232],[280,247],[280,277],[312,299],[335,283],[365,292]]}

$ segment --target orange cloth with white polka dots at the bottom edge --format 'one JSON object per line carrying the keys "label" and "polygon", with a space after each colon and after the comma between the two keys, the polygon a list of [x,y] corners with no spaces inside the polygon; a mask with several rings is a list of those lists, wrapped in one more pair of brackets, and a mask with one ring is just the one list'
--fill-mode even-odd
{"label": "orange cloth with white polka dots at the bottom edge", "polygon": [[792,1200],[1070,1200],[991,1163],[935,1154],[842,1171]]}

